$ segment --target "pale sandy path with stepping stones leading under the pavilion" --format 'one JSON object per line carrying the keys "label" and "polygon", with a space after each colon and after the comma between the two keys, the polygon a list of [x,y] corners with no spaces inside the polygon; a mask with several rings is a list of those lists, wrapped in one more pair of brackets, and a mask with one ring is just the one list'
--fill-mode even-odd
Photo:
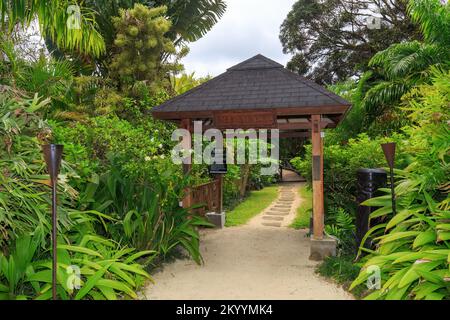
{"label": "pale sandy path with stepping stones leading under the pavilion", "polygon": [[299,184],[280,187],[279,198],[249,224],[202,231],[205,264],[179,260],[154,275],[151,300],[352,299],[314,273],[306,231],[287,226],[301,204]]}

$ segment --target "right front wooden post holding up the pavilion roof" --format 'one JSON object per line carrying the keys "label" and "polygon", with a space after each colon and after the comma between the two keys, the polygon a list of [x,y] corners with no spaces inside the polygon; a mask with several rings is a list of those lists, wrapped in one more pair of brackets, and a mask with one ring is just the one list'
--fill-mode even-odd
{"label": "right front wooden post holding up the pavilion roof", "polygon": [[312,170],[313,170],[313,237],[322,240],[324,235],[323,197],[323,141],[321,135],[321,115],[313,115],[312,120]]}

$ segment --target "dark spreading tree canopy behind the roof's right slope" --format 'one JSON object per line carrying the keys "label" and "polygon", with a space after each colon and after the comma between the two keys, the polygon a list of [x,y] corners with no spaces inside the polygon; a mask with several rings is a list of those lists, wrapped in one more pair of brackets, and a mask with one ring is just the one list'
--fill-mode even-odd
{"label": "dark spreading tree canopy behind the roof's right slope", "polygon": [[378,51],[420,38],[406,11],[401,0],[298,0],[281,26],[288,68],[322,84],[358,75]]}

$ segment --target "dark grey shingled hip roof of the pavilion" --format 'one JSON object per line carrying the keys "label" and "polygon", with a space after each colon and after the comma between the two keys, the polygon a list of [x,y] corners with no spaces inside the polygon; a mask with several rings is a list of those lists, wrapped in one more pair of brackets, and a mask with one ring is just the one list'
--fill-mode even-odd
{"label": "dark grey shingled hip roof of the pavilion", "polygon": [[350,106],[350,103],[259,54],[152,112],[324,106]]}

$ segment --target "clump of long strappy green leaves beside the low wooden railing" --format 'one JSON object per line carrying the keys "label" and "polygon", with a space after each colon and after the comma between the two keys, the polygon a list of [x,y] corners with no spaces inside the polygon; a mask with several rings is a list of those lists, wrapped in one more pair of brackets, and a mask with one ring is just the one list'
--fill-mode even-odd
{"label": "clump of long strappy green leaves beside the low wooden railing", "polygon": [[[161,163],[160,163],[161,164]],[[142,167],[136,176],[126,176],[112,160],[110,170],[98,184],[88,186],[84,201],[95,210],[111,214],[118,223],[108,233],[117,242],[139,250],[152,250],[154,258],[164,259],[183,247],[201,262],[197,228],[211,226],[201,217],[191,217],[179,206],[189,177],[179,166],[167,161],[164,168]]]}

